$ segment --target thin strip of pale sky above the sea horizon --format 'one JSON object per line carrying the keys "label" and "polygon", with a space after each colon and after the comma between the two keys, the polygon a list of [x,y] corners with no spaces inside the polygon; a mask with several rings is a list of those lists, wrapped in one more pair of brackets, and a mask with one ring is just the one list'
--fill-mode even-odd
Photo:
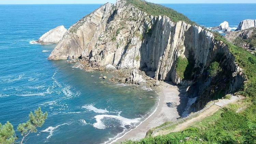
{"label": "thin strip of pale sky above the sea horizon", "polygon": [[[256,0],[147,0],[154,3],[256,3]],[[0,0],[0,4],[115,3],[116,0]]]}

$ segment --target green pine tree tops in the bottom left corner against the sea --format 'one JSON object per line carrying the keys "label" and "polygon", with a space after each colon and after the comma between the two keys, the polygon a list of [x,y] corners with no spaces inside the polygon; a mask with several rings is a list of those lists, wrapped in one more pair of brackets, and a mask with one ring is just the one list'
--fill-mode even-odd
{"label": "green pine tree tops in the bottom left corner against the sea", "polygon": [[22,135],[20,142],[17,142],[18,137],[15,134],[12,124],[7,121],[3,126],[0,123],[0,144],[23,144],[25,138],[30,133],[37,132],[37,128],[44,124],[47,118],[47,112],[43,113],[39,107],[34,113],[30,112],[29,120],[26,123],[19,124],[17,130]]}

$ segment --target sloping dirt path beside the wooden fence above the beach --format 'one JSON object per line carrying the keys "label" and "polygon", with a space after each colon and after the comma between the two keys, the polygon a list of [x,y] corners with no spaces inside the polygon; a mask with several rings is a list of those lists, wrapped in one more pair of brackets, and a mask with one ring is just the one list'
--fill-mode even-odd
{"label": "sloping dirt path beside the wooden fence above the beach", "polygon": [[214,114],[215,112],[217,112],[219,109],[221,109],[221,107],[223,107],[223,106],[225,106],[229,103],[235,103],[239,99],[240,98],[238,98],[238,97],[231,97],[230,100],[228,100],[228,99],[219,100],[219,102],[216,102],[215,105],[212,105],[209,109],[205,110],[204,112],[202,112],[198,116],[196,116],[194,118],[191,118],[191,119],[177,125],[174,129],[160,130],[157,133],[155,133],[153,136],[168,134],[168,133],[171,133],[171,132],[182,131],[182,130],[186,129],[187,127],[193,125],[194,122],[201,121],[203,118],[208,117],[208,116]]}

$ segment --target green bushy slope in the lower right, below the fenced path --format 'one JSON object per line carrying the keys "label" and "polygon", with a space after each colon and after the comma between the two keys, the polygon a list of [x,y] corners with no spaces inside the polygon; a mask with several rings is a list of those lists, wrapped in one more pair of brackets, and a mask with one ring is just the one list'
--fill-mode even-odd
{"label": "green bushy slope in the lower right, below the fenced path", "polygon": [[[193,126],[167,135],[147,137],[140,141],[123,144],[255,144],[256,143],[256,103],[251,99],[241,104],[230,104],[213,115],[195,122]],[[237,109],[247,104],[247,109],[237,113]]]}

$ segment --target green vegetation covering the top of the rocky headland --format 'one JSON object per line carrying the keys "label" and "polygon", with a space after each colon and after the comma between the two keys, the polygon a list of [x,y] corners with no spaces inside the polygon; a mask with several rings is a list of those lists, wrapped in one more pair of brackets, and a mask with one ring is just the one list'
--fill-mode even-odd
{"label": "green vegetation covering the top of the rocky headland", "polygon": [[174,22],[185,21],[186,23],[189,23],[189,24],[195,24],[195,22],[191,21],[185,15],[173,9],[162,6],[160,4],[154,4],[154,3],[146,2],[143,0],[126,0],[126,1],[127,1],[127,4],[132,4],[139,10],[144,11],[149,15],[152,15],[152,16],[166,15]]}

